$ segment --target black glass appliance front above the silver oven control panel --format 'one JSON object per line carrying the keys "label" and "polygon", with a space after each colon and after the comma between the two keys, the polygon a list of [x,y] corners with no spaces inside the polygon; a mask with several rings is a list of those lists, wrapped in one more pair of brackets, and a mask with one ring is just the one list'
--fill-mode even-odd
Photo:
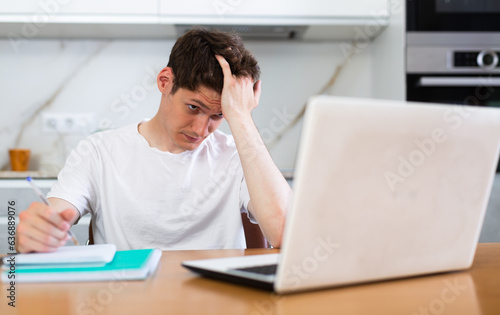
{"label": "black glass appliance front above the silver oven control panel", "polygon": [[407,0],[407,30],[498,32],[498,0]]}

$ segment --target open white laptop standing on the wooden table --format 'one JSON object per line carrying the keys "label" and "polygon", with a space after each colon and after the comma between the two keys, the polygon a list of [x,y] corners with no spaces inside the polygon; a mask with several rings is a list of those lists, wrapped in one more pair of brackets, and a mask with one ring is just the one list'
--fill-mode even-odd
{"label": "open white laptop standing on the wooden table", "polygon": [[500,109],[312,97],[280,254],[182,265],[279,294],[467,269],[499,148]]}

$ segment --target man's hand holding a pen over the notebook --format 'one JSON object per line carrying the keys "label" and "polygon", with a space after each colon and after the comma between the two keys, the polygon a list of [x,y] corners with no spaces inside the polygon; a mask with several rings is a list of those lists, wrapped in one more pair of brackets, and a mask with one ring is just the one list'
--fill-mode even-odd
{"label": "man's hand holding a pen over the notebook", "polygon": [[50,252],[64,245],[71,225],[58,212],[42,203],[33,203],[19,214],[16,249]]}

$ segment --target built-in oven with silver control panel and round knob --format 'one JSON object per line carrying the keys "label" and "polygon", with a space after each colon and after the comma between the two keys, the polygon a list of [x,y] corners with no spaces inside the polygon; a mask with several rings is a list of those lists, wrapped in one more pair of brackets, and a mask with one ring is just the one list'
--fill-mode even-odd
{"label": "built-in oven with silver control panel and round knob", "polygon": [[406,40],[408,100],[500,107],[500,34],[409,32]]}

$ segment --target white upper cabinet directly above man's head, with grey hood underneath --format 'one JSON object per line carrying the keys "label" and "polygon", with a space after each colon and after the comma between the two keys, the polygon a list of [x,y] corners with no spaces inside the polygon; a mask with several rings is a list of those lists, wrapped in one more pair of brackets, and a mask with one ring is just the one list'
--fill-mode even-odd
{"label": "white upper cabinet directly above man's head, with grey hood underneath", "polygon": [[389,24],[387,0],[160,0],[162,24],[183,34],[192,25],[243,37],[298,40],[374,38]]}

